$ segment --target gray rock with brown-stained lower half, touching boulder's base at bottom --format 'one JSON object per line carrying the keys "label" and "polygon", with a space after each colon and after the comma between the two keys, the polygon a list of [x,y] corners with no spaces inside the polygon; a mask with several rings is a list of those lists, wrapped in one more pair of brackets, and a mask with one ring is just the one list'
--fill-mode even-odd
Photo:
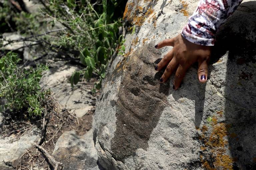
{"label": "gray rock with brown-stained lower half, touching boulder's base at bottom", "polygon": [[82,136],[65,131],[56,142],[53,156],[66,170],[99,170],[92,129]]}

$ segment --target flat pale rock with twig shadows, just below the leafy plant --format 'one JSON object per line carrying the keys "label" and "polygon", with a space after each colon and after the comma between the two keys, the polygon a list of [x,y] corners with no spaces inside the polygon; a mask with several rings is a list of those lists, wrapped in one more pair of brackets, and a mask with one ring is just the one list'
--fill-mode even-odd
{"label": "flat pale rock with twig shadows, just below the leafy plant", "polygon": [[52,95],[63,106],[71,109],[78,118],[83,117],[90,109],[92,96],[90,90],[80,88],[81,85],[71,87],[69,78],[73,72],[79,69],[76,66],[66,64],[63,61],[54,62],[41,79],[41,87],[44,90],[51,89]]}

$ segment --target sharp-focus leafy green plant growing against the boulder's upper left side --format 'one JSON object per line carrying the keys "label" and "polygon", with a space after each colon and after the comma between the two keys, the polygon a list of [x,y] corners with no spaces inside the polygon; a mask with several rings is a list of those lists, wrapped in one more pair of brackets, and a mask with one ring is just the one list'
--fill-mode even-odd
{"label": "sharp-focus leafy green plant growing against the boulder's upper left side", "polygon": [[50,6],[46,7],[48,10],[45,12],[54,18],[53,22],[62,23],[67,28],[64,34],[58,33],[59,39],[52,44],[79,51],[78,57],[85,67],[73,73],[71,86],[81,79],[90,80],[96,75],[99,80],[95,88],[100,89],[108,60],[122,43],[118,34],[122,26],[121,15],[117,17],[114,14],[117,8],[124,7],[126,1],[102,0],[92,3],[86,0],[49,0]]}

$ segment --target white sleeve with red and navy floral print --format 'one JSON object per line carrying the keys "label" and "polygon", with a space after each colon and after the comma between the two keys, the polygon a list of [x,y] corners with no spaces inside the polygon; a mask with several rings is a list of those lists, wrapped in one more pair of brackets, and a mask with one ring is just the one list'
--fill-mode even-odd
{"label": "white sleeve with red and navy floral print", "polygon": [[181,35],[190,42],[212,46],[215,34],[242,0],[200,0]]}

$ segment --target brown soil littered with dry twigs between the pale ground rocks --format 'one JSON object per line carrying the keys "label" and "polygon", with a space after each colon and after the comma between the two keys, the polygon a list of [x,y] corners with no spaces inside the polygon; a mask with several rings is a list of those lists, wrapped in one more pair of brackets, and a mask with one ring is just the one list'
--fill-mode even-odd
{"label": "brown soil littered with dry twigs between the pale ground rocks", "polygon": [[[68,109],[61,107],[57,100],[50,95],[47,97],[45,105],[47,108],[45,130],[42,128],[44,114],[42,117],[29,119],[19,113],[15,114],[15,116],[7,116],[4,124],[0,127],[0,136],[7,137],[11,134],[15,134],[16,138],[14,140],[18,140],[24,133],[26,133],[26,130],[23,129],[31,129],[37,126],[42,130],[42,134],[44,134],[41,146],[45,148],[48,153],[52,154],[55,148],[55,143],[64,131],[74,130],[78,135],[83,135],[91,129],[95,104],[92,104],[94,108],[89,110],[87,114],[81,118],[77,118],[76,115],[72,114]],[[12,166],[18,170],[25,170],[33,169],[36,165],[37,169],[40,170],[53,169],[48,163],[47,158],[37,148],[31,147],[28,148],[27,152],[25,152],[18,162]]]}

